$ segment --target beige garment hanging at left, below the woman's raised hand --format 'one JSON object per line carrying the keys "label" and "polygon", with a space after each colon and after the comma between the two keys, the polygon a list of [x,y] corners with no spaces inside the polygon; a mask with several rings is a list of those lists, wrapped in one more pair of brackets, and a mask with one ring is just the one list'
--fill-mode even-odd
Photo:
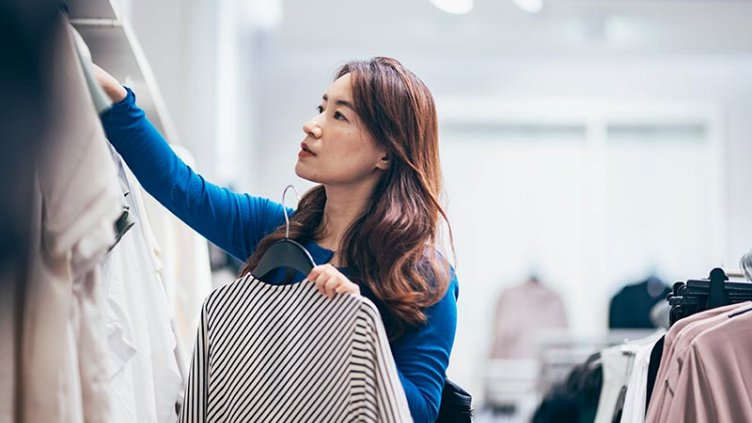
{"label": "beige garment hanging at left, below the woman's raised hand", "polygon": [[54,130],[37,169],[25,299],[23,421],[111,421],[99,262],[120,215],[117,176],[67,19],[54,30]]}

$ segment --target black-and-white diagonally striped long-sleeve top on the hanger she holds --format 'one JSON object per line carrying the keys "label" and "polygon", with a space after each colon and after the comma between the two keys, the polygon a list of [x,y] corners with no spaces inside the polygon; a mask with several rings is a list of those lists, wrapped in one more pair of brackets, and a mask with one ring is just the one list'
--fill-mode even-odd
{"label": "black-and-white diagonally striped long-sleeve top on the hanger she holds", "polygon": [[204,302],[180,421],[412,418],[371,301],[247,275]]}

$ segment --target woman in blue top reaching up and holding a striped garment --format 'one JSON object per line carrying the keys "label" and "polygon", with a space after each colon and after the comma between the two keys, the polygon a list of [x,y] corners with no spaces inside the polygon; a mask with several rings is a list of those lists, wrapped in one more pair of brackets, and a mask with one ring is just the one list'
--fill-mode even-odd
{"label": "woman in blue top reaching up and holding a striped garment", "polygon": [[[244,273],[284,237],[281,204],[208,183],[172,152],[135,95],[97,69],[116,103],[107,137],[144,186],[207,239],[243,260]],[[291,217],[290,237],[316,266],[327,296],[355,293],[379,308],[416,422],[436,419],[457,320],[457,279],[437,252],[441,171],[428,88],[398,61],[344,65],[303,125],[295,172],[319,185]],[[272,283],[292,281],[281,274]],[[197,310],[198,312],[198,310]]]}

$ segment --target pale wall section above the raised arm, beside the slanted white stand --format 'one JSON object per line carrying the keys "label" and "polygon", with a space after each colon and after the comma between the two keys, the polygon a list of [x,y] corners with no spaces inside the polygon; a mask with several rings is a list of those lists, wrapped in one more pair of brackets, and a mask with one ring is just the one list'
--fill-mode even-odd
{"label": "pale wall section above the raised arm, beside the slanted white stand", "polygon": [[[217,107],[217,4],[127,0],[126,19],[141,43],[177,128],[197,167],[214,173]],[[138,93],[136,93],[138,94]]]}

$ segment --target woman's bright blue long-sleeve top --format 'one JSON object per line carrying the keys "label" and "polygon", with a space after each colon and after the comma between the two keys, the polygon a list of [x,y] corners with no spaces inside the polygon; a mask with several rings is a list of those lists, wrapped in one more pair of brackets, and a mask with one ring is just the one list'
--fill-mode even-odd
{"label": "woman's bright blue long-sleeve top", "polygon": [[[178,158],[136,105],[133,91],[127,91],[122,101],[102,115],[107,138],[149,194],[209,241],[247,259],[264,236],[284,224],[284,206],[207,182]],[[332,251],[313,240],[303,245],[316,264],[332,258]],[[433,422],[438,415],[457,325],[459,287],[453,270],[451,274],[446,295],[425,310],[427,323],[409,328],[390,345],[416,422]],[[299,275],[294,282],[301,278]],[[277,278],[271,283],[283,281]],[[364,286],[361,292],[387,317],[383,302],[373,292]],[[390,319],[385,318],[384,325],[390,329]]]}

